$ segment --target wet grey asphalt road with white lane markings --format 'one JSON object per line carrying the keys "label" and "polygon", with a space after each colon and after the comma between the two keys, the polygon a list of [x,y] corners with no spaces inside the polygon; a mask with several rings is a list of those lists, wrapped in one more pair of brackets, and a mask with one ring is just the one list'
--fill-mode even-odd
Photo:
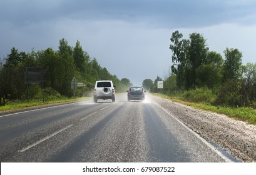
{"label": "wet grey asphalt road with white lane markings", "polygon": [[175,116],[146,100],[93,99],[0,116],[3,162],[228,162]]}

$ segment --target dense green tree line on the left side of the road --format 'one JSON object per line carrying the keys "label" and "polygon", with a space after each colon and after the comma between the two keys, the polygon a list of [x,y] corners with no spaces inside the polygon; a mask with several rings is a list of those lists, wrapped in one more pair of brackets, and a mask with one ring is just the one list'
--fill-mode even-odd
{"label": "dense green tree line on the left side of the road", "polygon": [[59,40],[58,51],[49,47],[45,50],[31,53],[19,52],[13,47],[6,58],[0,59],[0,97],[9,100],[24,101],[41,99],[43,94],[42,84],[29,84],[29,94],[24,81],[24,68],[41,66],[44,69],[44,94],[49,100],[73,96],[71,81],[75,77],[78,82],[86,84],[85,87],[76,89],[76,96],[90,96],[95,86],[95,81],[110,79],[116,86],[116,91],[121,92],[131,86],[127,78],[118,79],[106,68],[102,68],[96,58],[91,58],[83,51],[80,42],[74,47],[69,46],[66,39]]}

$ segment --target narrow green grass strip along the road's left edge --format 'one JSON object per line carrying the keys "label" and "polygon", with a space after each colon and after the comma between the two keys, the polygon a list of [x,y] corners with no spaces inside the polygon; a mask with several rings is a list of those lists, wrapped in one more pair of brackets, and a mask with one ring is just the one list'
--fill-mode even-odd
{"label": "narrow green grass strip along the road's left edge", "polygon": [[14,109],[24,109],[29,108],[33,106],[40,106],[44,104],[55,104],[55,103],[67,103],[67,102],[74,102],[74,101],[80,101],[83,99],[89,99],[89,97],[84,98],[66,98],[66,99],[56,99],[52,101],[31,101],[29,103],[19,102],[19,101],[12,101],[6,104],[5,106],[0,106],[0,111],[8,111],[8,110],[14,110]]}

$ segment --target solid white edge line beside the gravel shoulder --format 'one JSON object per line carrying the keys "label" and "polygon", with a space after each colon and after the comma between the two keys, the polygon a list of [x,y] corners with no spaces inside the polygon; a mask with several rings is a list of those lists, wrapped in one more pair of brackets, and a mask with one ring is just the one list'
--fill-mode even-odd
{"label": "solid white edge line beside the gravel shoulder", "polygon": [[224,159],[228,163],[233,163],[233,161],[231,159],[229,159],[227,156],[223,155],[220,151],[218,151],[218,149],[215,149],[214,146],[212,146],[212,144],[208,143],[205,139],[203,139],[201,136],[199,136],[197,133],[195,133],[195,131],[193,131],[192,129],[188,128],[188,126],[186,126],[184,123],[182,123],[177,118],[175,118],[172,114],[170,114],[168,111],[166,111],[165,108],[161,107],[160,104],[157,104],[157,103],[155,103],[155,104],[158,107],[160,107],[161,109],[163,109],[163,111],[165,111],[165,113],[169,114],[173,119],[178,121],[178,123],[182,124],[182,126],[187,128],[188,131],[190,131],[192,134],[194,134],[198,139],[200,139],[200,141],[202,141],[204,144],[206,144],[210,149],[212,149],[215,153],[217,153],[222,159]]}

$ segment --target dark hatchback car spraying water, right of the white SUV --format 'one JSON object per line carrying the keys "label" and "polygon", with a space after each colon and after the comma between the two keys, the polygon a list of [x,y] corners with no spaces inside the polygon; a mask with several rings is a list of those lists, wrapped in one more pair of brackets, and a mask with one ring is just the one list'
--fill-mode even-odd
{"label": "dark hatchback car spraying water, right of the white SUV", "polygon": [[133,86],[126,92],[127,92],[128,101],[130,101],[130,100],[142,100],[143,101],[145,99],[146,91],[144,91],[143,87]]}

